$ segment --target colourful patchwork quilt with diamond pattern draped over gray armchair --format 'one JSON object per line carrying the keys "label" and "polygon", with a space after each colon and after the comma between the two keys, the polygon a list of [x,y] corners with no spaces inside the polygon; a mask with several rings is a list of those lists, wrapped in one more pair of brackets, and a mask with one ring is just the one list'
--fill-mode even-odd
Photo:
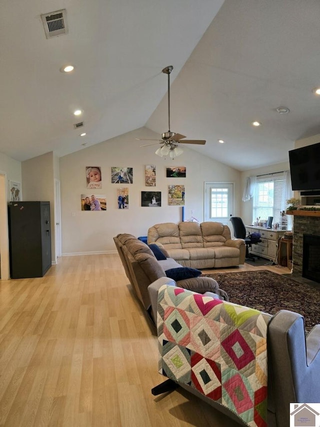
{"label": "colourful patchwork quilt with diamond pattern draped over gray armchair", "polygon": [[266,426],[266,333],[260,311],[162,286],[158,292],[159,372]]}

